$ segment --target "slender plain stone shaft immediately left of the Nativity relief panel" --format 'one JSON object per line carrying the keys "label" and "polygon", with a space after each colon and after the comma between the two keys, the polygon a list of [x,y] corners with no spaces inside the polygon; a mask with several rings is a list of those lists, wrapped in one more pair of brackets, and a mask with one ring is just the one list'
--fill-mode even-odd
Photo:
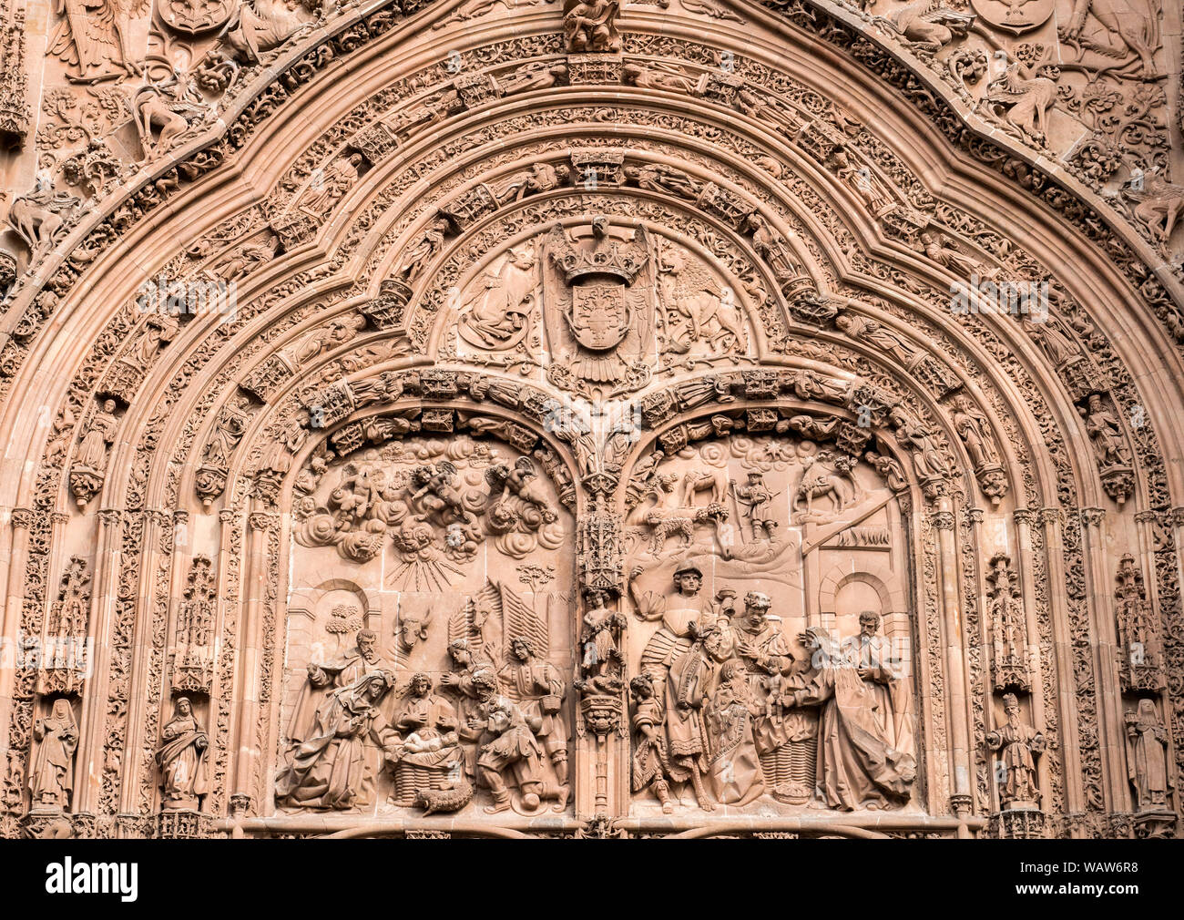
{"label": "slender plain stone shaft immediately left of the Nativity relief panel", "polygon": [[[239,632],[238,675],[234,689],[238,712],[234,728],[234,796],[255,798],[251,774],[259,758],[256,723],[259,715],[259,673],[262,665],[263,606],[268,591],[268,534],[278,520],[275,514],[252,512],[247,515],[246,571],[243,587],[243,623]],[[221,688],[225,693],[226,688]],[[258,803],[256,802],[258,806]]]}

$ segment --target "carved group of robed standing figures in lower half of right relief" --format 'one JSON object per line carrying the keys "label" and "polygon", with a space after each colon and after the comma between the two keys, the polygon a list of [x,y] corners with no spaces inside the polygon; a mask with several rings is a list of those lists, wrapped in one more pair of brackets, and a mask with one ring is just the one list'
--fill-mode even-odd
{"label": "carved group of robed standing figures in lower half of right relief", "polygon": [[916,777],[912,689],[887,654],[880,617],[842,639],[811,626],[794,654],[770,597],[700,597],[702,572],[678,567],[675,592],[638,607],[661,625],[630,681],[632,787],[664,812],[689,784],[699,808],[764,794],[843,811],[899,808]]}

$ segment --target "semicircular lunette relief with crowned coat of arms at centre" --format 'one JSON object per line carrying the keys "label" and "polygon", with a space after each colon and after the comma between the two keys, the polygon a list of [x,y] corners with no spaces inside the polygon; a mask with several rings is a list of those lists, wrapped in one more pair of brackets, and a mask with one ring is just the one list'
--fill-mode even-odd
{"label": "semicircular lunette relief with crowned coat of arms at centre", "polygon": [[585,214],[515,242],[461,287],[453,347],[461,360],[536,367],[573,395],[612,400],[676,365],[748,356],[746,297],[701,251]]}

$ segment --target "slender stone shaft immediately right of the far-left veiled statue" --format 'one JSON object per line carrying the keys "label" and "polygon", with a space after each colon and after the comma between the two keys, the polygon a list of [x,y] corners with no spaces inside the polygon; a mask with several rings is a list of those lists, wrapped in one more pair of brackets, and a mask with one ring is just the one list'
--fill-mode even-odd
{"label": "slender stone shaft immediately right of the far-left veiled statue", "polygon": [[[94,668],[83,694],[81,738],[75,760],[73,808],[76,812],[97,810],[103,785],[107,744],[107,686],[111,664],[111,622],[120,585],[123,519],[127,512],[104,508],[98,513],[95,534],[95,581],[86,641],[94,650]],[[126,753],[126,749],[124,749]]]}

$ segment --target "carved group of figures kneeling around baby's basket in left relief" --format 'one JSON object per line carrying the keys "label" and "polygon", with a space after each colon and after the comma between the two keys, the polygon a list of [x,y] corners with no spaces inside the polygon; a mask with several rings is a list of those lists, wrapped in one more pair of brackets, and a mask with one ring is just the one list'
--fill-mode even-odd
{"label": "carved group of figures kneeling around baby's basket in left relief", "polygon": [[482,603],[471,598],[453,617],[450,635],[463,635],[448,645],[451,670],[436,680],[397,673],[368,629],[343,655],[309,664],[288,726],[277,804],[368,809],[380,804],[386,772],[386,804],[427,815],[463,809],[476,791],[488,792],[489,813],[534,813],[546,803],[562,811],[571,794],[567,684],[525,632],[508,638],[495,663],[480,638],[489,613]]}

